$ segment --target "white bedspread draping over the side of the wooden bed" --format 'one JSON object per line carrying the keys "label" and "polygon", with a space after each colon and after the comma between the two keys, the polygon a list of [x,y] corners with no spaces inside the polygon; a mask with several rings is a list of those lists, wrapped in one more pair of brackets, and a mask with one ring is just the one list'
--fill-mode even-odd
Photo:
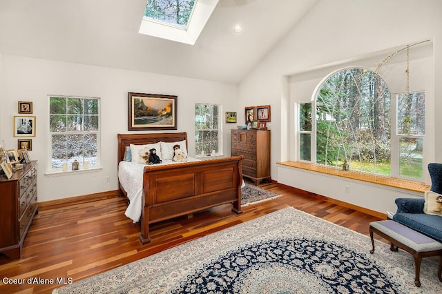
{"label": "white bedspread draping over the side of the wooden bed", "polygon": [[[199,161],[200,159],[188,157],[187,161]],[[180,164],[172,160],[163,160],[161,164]],[[135,164],[131,161],[120,161],[118,164],[118,179],[127,193],[129,205],[126,208],[124,215],[133,220],[134,223],[140,221],[142,210],[142,196],[143,196],[143,171],[145,164]]]}

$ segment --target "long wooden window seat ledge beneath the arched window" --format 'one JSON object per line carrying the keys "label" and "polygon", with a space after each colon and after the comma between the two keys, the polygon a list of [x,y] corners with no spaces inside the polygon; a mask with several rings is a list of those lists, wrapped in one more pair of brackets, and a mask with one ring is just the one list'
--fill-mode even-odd
{"label": "long wooden window seat ledge beneath the arched window", "polygon": [[324,173],[327,175],[334,175],[336,177],[345,177],[347,179],[354,179],[361,182],[389,186],[392,188],[400,188],[410,190],[413,192],[424,193],[430,190],[430,186],[424,182],[417,182],[410,179],[400,179],[397,177],[388,177],[385,175],[374,175],[372,173],[363,173],[356,170],[341,170],[332,166],[322,166],[320,164],[311,164],[301,161],[284,161],[277,162],[280,166],[289,166],[291,168],[300,168],[316,173]]}

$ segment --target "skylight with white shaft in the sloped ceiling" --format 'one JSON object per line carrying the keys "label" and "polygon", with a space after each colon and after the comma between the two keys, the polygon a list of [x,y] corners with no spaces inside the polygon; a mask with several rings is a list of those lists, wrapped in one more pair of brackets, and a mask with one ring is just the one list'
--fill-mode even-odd
{"label": "skylight with white shaft in the sloped ceiling", "polygon": [[140,34],[193,45],[219,0],[147,0]]}

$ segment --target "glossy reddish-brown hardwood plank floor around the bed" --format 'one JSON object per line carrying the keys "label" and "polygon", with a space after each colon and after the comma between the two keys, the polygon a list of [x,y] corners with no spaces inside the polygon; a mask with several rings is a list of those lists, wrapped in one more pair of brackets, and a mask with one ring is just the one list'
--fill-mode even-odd
{"label": "glossy reddish-brown hardwood plank floor around the bed", "polygon": [[[227,204],[192,218],[153,224],[152,242],[146,245],[138,240],[140,226],[124,216],[122,197],[46,207],[30,227],[21,259],[10,261],[0,255],[0,293],[50,293],[62,286],[57,278],[75,282],[287,206],[365,235],[369,222],[379,220],[281,184],[261,184],[261,188],[282,197],[246,206],[241,215],[232,213]],[[34,279],[28,281],[30,277]],[[13,279],[23,284],[9,284]]]}

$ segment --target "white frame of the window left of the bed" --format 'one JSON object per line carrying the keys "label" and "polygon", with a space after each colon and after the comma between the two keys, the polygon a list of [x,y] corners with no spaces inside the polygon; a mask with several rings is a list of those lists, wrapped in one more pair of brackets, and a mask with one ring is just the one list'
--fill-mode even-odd
{"label": "white frame of the window left of the bed", "polygon": [[[95,99],[97,100],[97,117],[98,117],[98,130],[96,131],[68,131],[66,130],[66,132],[52,132],[50,130],[50,99],[51,98],[66,98],[66,99]],[[47,142],[48,142],[48,146],[49,148],[47,148],[47,155],[46,155],[46,173],[45,175],[48,176],[52,176],[52,175],[67,175],[70,173],[81,173],[81,172],[93,172],[96,170],[101,170],[102,169],[102,165],[101,165],[101,132],[102,132],[102,127],[101,127],[101,121],[102,121],[102,115],[101,115],[101,99],[99,97],[82,97],[82,96],[68,96],[68,95],[48,95],[48,136],[47,136]],[[67,110],[66,110],[67,112]],[[67,114],[67,113],[66,113]],[[84,115],[84,113],[82,114]],[[79,135],[86,135],[86,134],[95,134],[97,137],[97,163],[95,165],[92,165],[90,163],[88,163],[88,167],[87,168],[83,168],[83,163],[80,163],[80,167],[78,170],[72,170],[70,168],[70,166],[68,165],[68,170],[64,171],[63,167],[61,166],[60,168],[52,168],[52,135],[75,135],[75,134],[79,134]]]}

